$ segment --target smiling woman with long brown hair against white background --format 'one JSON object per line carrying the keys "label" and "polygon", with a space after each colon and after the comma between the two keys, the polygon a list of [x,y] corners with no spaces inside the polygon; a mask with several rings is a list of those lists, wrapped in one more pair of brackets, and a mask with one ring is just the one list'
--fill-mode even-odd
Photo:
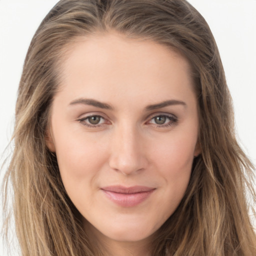
{"label": "smiling woman with long brown hair against white background", "polygon": [[252,166],[186,1],[59,1],[27,52],[14,140],[23,255],[255,254]]}

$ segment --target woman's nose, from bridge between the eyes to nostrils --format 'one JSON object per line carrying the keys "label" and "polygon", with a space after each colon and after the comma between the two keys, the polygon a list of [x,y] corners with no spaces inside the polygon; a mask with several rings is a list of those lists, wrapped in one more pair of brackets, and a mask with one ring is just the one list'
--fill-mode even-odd
{"label": "woman's nose, from bridge between the eyes to nostrils", "polygon": [[115,128],[111,137],[110,168],[125,175],[134,174],[146,168],[148,161],[144,139],[136,127]]}

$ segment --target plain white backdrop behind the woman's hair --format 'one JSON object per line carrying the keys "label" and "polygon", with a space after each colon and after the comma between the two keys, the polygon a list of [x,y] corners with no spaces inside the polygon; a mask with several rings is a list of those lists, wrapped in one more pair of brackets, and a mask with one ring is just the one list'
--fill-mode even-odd
{"label": "plain white backdrop behind the woman's hair", "polygon": [[[256,164],[256,0],[188,1],[206,19],[215,37],[233,98],[237,135]],[[29,42],[56,2],[0,0],[0,164],[10,152],[3,150],[12,133],[16,90]],[[5,247],[0,242],[1,256],[7,255]]]}

